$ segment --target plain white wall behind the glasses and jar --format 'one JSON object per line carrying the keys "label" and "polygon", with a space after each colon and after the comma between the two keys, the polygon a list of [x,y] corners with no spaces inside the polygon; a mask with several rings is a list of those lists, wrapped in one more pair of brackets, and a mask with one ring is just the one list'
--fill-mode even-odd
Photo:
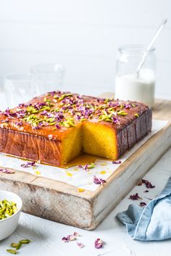
{"label": "plain white wall behind the glasses and jar", "polygon": [[170,0],[0,0],[0,75],[59,62],[64,90],[114,91],[117,48],[148,44],[164,17],[156,96],[171,99]]}

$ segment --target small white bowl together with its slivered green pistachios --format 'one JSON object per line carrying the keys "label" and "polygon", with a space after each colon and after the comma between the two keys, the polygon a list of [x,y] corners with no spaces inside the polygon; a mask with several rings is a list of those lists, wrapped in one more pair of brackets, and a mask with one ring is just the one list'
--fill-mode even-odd
{"label": "small white bowl together with its slivered green pistachios", "polygon": [[22,199],[9,191],[0,191],[0,241],[17,228],[22,209]]}

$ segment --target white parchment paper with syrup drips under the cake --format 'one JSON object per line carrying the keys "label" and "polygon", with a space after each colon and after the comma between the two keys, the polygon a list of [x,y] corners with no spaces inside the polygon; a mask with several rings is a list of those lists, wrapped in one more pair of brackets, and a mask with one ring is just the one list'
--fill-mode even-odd
{"label": "white parchment paper with syrup drips under the cake", "polygon": [[[167,125],[167,121],[153,120],[152,131],[144,139],[135,144],[126,154],[120,157],[120,160],[125,162],[141,145],[148,141],[151,136],[159,132],[164,126]],[[30,161],[29,161],[30,162]],[[111,160],[96,160],[95,168],[91,170],[83,170],[78,167],[72,167],[68,169],[57,168],[50,165],[41,165],[36,163],[36,168],[22,168],[21,165],[25,164],[25,160],[21,160],[15,157],[9,157],[0,153],[0,165],[4,168],[13,168],[15,170],[22,170],[28,173],[32,173],[35,176],[42,176],[51,178],[57,181],[63,181],[65,183],[78,186],[79,188],[95,191],[99,185],[93,183],[93,176],[97,178],[103,178],[106,180],[112,173],[114,173],[121,164],[112,164]],[[102,171],[102,173],[101,173]],[[10,174],[7,174],[10,175]]]}

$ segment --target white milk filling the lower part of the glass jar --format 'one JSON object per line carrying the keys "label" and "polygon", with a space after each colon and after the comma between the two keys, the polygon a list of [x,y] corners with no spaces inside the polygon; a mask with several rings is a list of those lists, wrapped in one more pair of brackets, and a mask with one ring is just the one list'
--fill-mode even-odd
{"label": "white milk filling the lower part of the glass jar", "polygon": [[135,74],[116,75],[115,99],[143,102],[154,105],[155,77],[152,70],[143,69],[138,78]]}

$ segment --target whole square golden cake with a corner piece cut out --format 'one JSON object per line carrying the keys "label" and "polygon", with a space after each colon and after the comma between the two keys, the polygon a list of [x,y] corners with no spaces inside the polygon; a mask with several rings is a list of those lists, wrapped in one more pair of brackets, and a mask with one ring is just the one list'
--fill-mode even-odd
{"label": "whole square golden cake with a corner piece cut out", "polygon": [[82,153],[117,160],[149,131],[143,103],[52,91],[0,113],[0,152],[57,166]]}

